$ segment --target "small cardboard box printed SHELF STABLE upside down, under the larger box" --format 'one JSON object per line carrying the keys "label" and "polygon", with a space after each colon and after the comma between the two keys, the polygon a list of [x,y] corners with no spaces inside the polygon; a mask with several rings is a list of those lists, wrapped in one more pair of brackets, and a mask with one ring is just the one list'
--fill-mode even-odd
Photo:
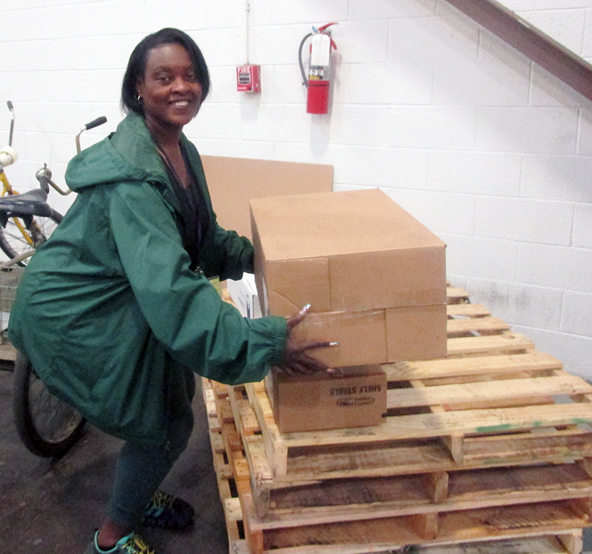
{"label": "small cardboard box printed SHELF STABLE upside down, under the larger box", "polygon": [[265,386],[281,432],[370,427],[387,411],[387,376],[378,365],[297,377],[272,370]]}

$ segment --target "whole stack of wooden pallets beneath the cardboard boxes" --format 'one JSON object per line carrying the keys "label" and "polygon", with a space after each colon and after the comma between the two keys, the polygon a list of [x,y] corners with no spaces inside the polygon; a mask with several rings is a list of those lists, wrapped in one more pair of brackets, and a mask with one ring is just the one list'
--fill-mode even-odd
{"label": "whole stack of wooden pallets beneath the cardboard boxes", "polygon": [[262,383],[205,381],[249,553],[542,534],[581,549],[570,533],[592,513],[592,387],[462,289],[448,288],[448,317],[447,358],[384,366],[377,427],[281,434]]}

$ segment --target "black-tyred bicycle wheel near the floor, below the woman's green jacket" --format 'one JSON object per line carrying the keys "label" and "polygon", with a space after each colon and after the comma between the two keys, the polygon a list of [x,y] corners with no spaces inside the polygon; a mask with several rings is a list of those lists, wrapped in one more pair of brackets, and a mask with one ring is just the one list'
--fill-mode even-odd
{"label": "black-tyred bicycle wheel near the floor, below the woman's green jacket", "polygon": [[13,413],[18,437],[28,450],[42,457],[68,452],[86,422],[45,388],[31,361],[21,353],[17,353],[14,364]]}

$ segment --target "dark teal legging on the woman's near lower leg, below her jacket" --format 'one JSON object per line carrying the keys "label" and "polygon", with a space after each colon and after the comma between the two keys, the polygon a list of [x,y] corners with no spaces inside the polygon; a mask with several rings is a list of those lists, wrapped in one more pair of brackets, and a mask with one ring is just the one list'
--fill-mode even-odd
{"label": "dark teal legging on the woman's near lower leg, below her jacket", "polygon": [[126,442],[117,459],[107,516],[118,525],[135,529],[152,495],[186,445],[186,440],[168,448]]}

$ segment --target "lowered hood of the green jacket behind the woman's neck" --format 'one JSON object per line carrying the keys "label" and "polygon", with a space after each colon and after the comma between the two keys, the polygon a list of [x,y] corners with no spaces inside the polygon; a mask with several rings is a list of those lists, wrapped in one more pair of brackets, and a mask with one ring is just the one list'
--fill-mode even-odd
{"label": "lowered hood of the green jacket behind the woman's neck", "polygon": [[155,153],[156,145],[144,118],[131,113],[119,123],[116,132],[72,158],[65,180],[75,192],[121,181],[168,183],[160,156]]}

